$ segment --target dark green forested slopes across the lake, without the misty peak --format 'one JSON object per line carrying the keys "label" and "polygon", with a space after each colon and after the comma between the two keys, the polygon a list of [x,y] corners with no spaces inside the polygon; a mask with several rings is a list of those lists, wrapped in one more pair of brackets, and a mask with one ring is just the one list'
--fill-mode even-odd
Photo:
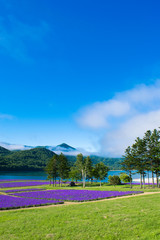
{"label": "dark green forested slopes across the lake, without the misty peak", "polygon": [[[9,151],[0,147],[0,171],[40,171],[44,170],[48,161],[55,155],[54,152],[46,148],[33,148],[22,151]],[[76,162],[76,156],[67,156],[70,166]],[[103,162],[110,170],[121,169],[121,158],[105,158],[90,156],[92,163]]]}

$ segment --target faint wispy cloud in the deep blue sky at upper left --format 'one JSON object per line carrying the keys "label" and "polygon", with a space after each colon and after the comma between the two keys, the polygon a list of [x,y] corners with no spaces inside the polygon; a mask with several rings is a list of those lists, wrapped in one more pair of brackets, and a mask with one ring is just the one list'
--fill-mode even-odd
{"label": "faint wispy cloud in the deep blue sky at upper left", "polygon": [[31,61],[30,45],[42,45],[48,30],[44,21],[29,25],[10,15],[0,18],[0,52],[20,61]]}

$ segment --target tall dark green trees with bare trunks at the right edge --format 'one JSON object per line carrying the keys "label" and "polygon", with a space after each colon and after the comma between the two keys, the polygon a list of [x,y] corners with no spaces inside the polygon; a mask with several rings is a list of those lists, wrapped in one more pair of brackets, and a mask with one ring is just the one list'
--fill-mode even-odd
{"label": "tall dark green trees with bare trunks at the right edge", "polygon": [[145,177],[152,173],[152,187],[154,188],[154,174],[156,175],[156,185],[159,187],[160,176],[160,131],[154,129],[145,132],[143,138],[137,137],[132,146],[125,150],[121,163],[122,170],[125,170],[130,179],[132,187],[133,170],[140,174],[140,186],[145,187]]}

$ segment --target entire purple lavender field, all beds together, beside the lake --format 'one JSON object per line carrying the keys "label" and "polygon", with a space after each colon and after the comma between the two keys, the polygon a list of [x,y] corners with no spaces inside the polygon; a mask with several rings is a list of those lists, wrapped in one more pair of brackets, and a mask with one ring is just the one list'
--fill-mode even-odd
{"label": "entire purple lavender field, all beds together, beside the lake", "polygon": [[0,209],[4,210],[49,204],[60,204],[64,201],[92,201],[141,193],[140,191],[122,192],[75,189],[45,190],[42,188],[22,188],[49,185],[49,183],[49,181],[38,180],[0,182],[0,188],[16,188],[9,190],[1,190],[2,194],[0,194]]}

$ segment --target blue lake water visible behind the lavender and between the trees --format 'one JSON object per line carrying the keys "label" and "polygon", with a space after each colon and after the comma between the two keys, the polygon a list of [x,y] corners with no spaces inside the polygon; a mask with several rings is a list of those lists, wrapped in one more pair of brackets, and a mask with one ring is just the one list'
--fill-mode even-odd
{"label": "blue lake water visible behind the lavender and between the trees", "polygon": [[[116,171],[109,171],[108,176],[111,175],[120,175],[124,171],[121,170],[116,170]],[[140,178],[139,174],[134,171],[135,174],[133,175],[133,181],[134,179]],[[151,178],[151,173],[150,173],[150,178]],[[29,172],[17,172],[17,171],[1,171],[0,172],[0,179],[20,179],[20,180],[46,180],[47,175],[45,172],[40,171],[40,172],[34,172],[34,171],[29,171]],[[107,181],[108,178],[103,180],[104,182]]]}

